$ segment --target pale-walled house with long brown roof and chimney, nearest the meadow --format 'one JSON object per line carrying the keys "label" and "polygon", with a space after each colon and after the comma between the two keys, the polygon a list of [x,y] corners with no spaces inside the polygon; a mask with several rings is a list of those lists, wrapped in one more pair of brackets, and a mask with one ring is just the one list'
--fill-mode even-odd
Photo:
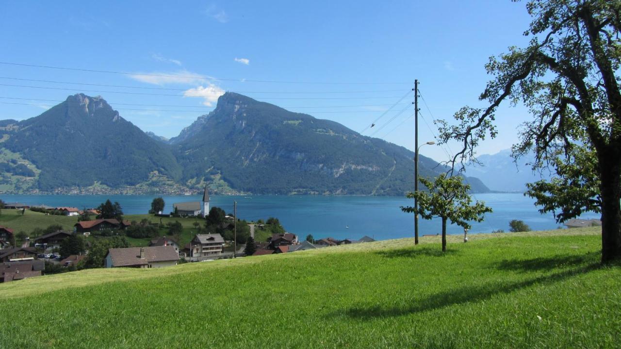
{"label": "pale-walled house with long brown roof and chimney, nearest the meadow", "polygon": [[106,268],[162,268],[177,265],[179,254],[172,246],[110,248]]}

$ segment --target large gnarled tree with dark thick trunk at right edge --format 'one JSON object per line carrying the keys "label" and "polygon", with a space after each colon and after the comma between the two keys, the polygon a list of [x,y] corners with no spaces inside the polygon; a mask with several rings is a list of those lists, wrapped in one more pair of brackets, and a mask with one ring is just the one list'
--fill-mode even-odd
{"label": "large gnarled tree with dark thick trunk at right edge", "polygon": [[[619,66],[621,2],[619,0],[531,0],[533,17],[524,48],[492,57],[486,65],[494,79],[479,99],[484,108],[463,107],[457,125],[441,125],[443,142],[462,144],[452,159],[476,160],[475,148],[496,137],[497,107],[522,103],[533,119],[520,130],[517,158],[534,151],[533,166],[544,166],[559,151],[592,148],[600,179],[602,262],[621,258],[621,93]],[[461,166],[463,168],[463,166]]]}

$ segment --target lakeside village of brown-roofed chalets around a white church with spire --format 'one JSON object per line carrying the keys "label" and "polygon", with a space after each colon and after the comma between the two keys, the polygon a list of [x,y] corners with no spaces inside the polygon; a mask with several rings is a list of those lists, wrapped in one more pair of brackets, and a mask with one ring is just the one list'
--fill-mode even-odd
{"label": "lakeside village of brown-roofed chalets around a white church with spire", "polygon": [[171,214],[162,213],[164,206],[161,197],[154,199],[148,215],[130,216],[142,218],[138,221],[124,218],[119,203],[109,200],[93,209],[4,203],[1,214],[12,210],[19,220],[55,222],[54,217],[63,216],[78,221],[72,231],[60,224],[29,233],[0,225],[0,282],[86,268],[161,268],[374,241],[366,236],[315,240],[312,235],[300,241],[274,217],[236,222],[219,207],[210,209],[207,187],[200,202],[176,202]]}

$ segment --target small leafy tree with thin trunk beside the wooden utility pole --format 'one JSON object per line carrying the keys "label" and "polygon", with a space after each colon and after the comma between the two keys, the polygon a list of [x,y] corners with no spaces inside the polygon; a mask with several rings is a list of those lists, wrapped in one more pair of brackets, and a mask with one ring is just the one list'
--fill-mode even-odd
{"label": "small leafy tree with thin trunk beside the wooden utility pole", "polygon": [[446,177],[446,173],[440,174],[435,181],[421,178],[420,183],[429,189],[408,193],[410,199],[417,198],[418,209],[414,207],[403,207],[403,212],[420,214],[424,219],[440,217],[442,219],[442,251],[446,251],[446,221],[455,223],[464,229],[471,229],[469,220],[483,222],[483,214],[492,212],[492,209],[485,206],[485,202],[476,201],[474,205],[468,194],[470,186],[461,181],[460,176]]}

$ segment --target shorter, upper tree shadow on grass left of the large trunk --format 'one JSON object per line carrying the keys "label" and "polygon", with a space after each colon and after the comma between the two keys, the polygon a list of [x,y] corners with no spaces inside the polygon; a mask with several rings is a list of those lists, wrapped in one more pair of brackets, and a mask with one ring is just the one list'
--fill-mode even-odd
{"label": "shorter, upper tree shadow on grass left of the large trunk", "polygon": [[503,260],[501,263],[494,265],[498,270],[506,271],[541,271],[563,268],[564,266],[583,265],[584,263],[596,263],[599,260],[600,252],[589,252],[585,255],[556,255],[551,257],[538,257],[522,260],[514,258],[512,260]]}

